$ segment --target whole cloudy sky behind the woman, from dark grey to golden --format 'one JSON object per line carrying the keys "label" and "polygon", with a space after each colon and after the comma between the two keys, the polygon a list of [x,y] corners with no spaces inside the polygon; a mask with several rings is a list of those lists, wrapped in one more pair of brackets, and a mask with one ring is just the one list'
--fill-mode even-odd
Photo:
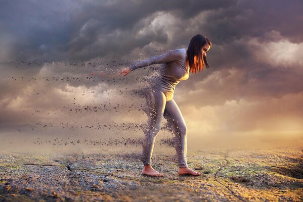
{"label": "whole cloudy sky behind the woman, from dark grey to golden", "polygon": [[295,0],[0,1],[0,145],[128,145],[147,120],[131,90],[160,64],[118,73],[198,33],[212,42],[210,69],[174,93],[188,144],[301,138],[302,10]]}

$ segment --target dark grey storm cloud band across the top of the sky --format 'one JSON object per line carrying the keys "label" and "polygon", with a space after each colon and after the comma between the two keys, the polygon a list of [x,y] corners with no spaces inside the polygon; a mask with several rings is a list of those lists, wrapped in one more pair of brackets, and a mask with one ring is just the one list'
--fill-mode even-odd
{"label": "dark grey storm cloud band across the top of the sky", "polygon": [[[2,3],[0,10],[0,26],[5,36],[2,44],[8,52],[6,58],[1,59],[89,60],[109,53],[123,55],[151,41],[165,44],[167,36],[163,30],[133,37],[151,23],[142,19],[159,11],[180,18],[178,26],[203,32],[217,44],[247,36],[263,37],[272,30],[299,42],[302,41],[301,10],[300,1],[134,1],[127,4],[120,1],[9,1]],[[203,11],[208,11],[207,15],[195,19]],[[191,19],[195,21],[189,24]],[[189,31],[183,38],[177,38],[175,45],[187,44],[193,34]]]}

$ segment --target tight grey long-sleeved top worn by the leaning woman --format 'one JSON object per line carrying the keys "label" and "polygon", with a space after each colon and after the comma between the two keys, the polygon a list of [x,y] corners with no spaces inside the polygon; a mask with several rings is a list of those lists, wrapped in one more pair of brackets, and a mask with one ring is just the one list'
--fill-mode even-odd
{"label": "tight grey long-sleeved top worn by the leaning woman", "polygon": [[129,69],[147,67],[154,64],[163,63],[163,71],[160,77],[152,84],[154,87],[159,87],[166,96],[166,101],[174,97],[176,85],[183,80],[187,80],[189,72],[185,67],[186,48],[173,49],[165,54],[153,56],[146,60],[135,61]]}

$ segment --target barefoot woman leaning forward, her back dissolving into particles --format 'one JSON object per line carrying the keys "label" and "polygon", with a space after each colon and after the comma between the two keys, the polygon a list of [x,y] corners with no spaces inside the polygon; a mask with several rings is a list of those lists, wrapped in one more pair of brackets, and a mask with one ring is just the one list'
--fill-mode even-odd
{"label": "barefoot woman leaning forward, her back dissolving into particles", "polygon": [[211,47],[211,41],[202,34],[195,35],[188,48],[174,49],[166,54],[154,56],[147,60],[136,61],[130,67],[120,72],[124,76],[135,69],[154,64],[163,63],[164,70],[160,77],[152,82],[150,97],[147,99],[149,107],[148,124],[145,130],[145,139],[143,142],[143,157],[141,161],[144,164],[142,174],[149,176],[163,177],[162,173],[157,172],[151,166],[151,157],[155,138],[160,130],[162,118],[167,120],[167,124],[175,133],[175,147],[179,164],[179,175],[201,175],[198,172],[188,168],[186,135],[187,127],[184,118],[176,104],[174,90],[176,85],[189,78],[189,72],[197,73],[205,67],[209,68],[206,61],[206,54]]}

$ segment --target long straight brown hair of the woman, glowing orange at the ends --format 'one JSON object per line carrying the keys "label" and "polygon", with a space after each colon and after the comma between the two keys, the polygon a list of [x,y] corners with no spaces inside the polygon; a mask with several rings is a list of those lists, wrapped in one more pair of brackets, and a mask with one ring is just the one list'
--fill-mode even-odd
{"label": "long straight brown hair of the woman, glowing orange at the ends", "polygon": [[208,43],[211,47],[211,41],[209,38],[204,36],[203,34],[197,34],[189,42],[187,52],[186,52],[186,60],[185,65],[186,67],[189,64],[189,69],[192,73],[203,71],[209,68],[209,65],[206,60],[206,56],[202,56],[201,49],[202,47]]}

